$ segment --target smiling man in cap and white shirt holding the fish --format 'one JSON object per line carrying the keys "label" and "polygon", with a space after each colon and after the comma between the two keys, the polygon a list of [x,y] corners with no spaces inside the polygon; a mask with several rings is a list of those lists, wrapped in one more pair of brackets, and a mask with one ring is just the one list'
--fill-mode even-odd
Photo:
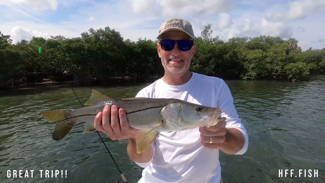
{"label": "smiling man in cap and white shirt holding the fish", "polygon": [[219,150],[227,154],[243,154],[247,150],[248,135],[227,84],[220,78],[189,71],[196,50],[194,38],[192,26],[186,20],[174,18],[162,23],[157,51],[164,76],[139,91],[136,97],[175,98],[219,107],[226,121],[210,128],[162,132],[151,146],[138,154],[135,140],[138,130],[129,127],[123,109],[106,106],[95,117],[97,130],[112,140],[129,140],[130,159],[145,168],[139,183],[219,183],[222,182]]}

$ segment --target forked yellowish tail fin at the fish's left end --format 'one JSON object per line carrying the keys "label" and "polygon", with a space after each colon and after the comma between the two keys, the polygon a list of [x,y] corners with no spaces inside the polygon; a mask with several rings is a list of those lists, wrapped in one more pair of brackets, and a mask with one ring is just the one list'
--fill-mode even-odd
{"label": "forked yellowish tail fin at the fish's left end", "polygon": [[49,121],[55,122],[55,129],[52,134],[53,140],[61,140],[65,137],[72,127],[76,124],[75,122],[71,121],[67,118],[67,114],[73,111],[72,109],[68,110],[53,110],[53,111],[46,111],[42,113],[42,116]]}

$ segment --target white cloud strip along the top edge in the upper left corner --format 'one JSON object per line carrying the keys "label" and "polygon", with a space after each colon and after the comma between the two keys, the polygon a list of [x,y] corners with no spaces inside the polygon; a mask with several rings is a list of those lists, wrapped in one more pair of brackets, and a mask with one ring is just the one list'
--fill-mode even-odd
{"label": "white cloud strip along the top edge in the upper left corner", "polygon": [[39,9],[39,10],[45,10],[45,9],[53,9],[56,10],[58,8],[58,2],[57,0],[0,0],[0,5],[6,5],[6,6],[21,6],[25,5],[32,9]]}

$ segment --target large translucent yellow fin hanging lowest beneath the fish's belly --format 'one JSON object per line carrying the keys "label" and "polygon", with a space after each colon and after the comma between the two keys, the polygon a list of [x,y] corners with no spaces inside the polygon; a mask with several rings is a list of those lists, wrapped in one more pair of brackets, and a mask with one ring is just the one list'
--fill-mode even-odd
{"label": "large translucent yellow fin hanging lowest beneath the fish's belly", "polygon": [[136,134],[136,152],[141,154],[145,151],[150,144],[155,140],[159,132],[141,130]]}

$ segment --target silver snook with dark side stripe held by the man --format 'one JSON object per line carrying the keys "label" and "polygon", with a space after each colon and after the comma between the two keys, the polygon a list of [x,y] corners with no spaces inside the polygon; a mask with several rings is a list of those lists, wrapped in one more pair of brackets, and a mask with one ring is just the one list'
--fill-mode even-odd
{"label": "silver snook with dark side stripe held by the man", "polygon": [[87,107],[80,109],[51,110],[43,112],[43,117],[56,124],[52,134],[54,140],[61,140],[72,127],[85,122],[85,131],[96,131],[94,119],[106,105],[123,108],[130,127],[139,129],[136,136],[137,153],[142,153],[160,132],[183,131],[199,126],[213,126],[226,118],[219,118],[221,110],[201,106],[178,99],[124,98],[113,99],[92,90]]}

